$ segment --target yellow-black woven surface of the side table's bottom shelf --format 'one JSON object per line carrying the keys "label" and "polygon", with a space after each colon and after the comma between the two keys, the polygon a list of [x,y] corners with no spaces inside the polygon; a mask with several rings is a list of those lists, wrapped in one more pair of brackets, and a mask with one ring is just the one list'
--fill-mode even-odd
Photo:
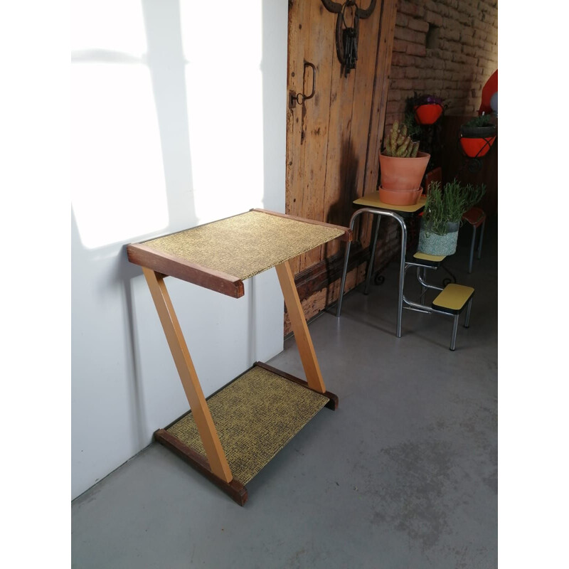
{"label": "yellow-black woven surface of the side table's bottom shelf", "polygon": [[[233,477],[247,484],[328,401],[257,366],[209,398]],[[206,456],[191,413],[167,431]]]}

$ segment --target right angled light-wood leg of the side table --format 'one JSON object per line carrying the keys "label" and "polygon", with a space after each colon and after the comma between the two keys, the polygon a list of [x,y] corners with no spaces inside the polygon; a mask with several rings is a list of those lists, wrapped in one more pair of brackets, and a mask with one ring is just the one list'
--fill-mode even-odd
{"label": "right angled light-wood leg of the side table", "polygon": [[294,277],[289,262],[282,262],[280,265],[276,265],[275,269],[279,277],[282,296],[285,297],[290,324],[294,332],[294,339],[297,341],[302,367],[307,376],[309,388],[319,393],[324,393],[326,387],[320,373],[316,353],[314,353],[314,345],[308,331],[307,320],[304,318],[304,311],[302,310],[302,304],[300,304],[297,287],[294,285]]}

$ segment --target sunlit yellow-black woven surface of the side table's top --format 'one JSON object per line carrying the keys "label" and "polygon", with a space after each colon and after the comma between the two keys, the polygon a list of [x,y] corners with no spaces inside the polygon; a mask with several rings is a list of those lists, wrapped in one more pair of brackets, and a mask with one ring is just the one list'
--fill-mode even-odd
{"label": "sunlit yellow-black woven surface of the side table's top", "polygon": [[343,234],[334,227],[248,211],[143,245],[245,280]]}

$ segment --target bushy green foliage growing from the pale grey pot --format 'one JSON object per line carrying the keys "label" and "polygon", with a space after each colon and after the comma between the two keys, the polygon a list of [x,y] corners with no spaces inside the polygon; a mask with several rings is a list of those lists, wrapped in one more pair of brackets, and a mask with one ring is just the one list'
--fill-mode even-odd
{"label": "bushy green foliage growing from the pale grey pot", "polygon": [[432,233],[445,235],[447,223],[462,220],[464,213],[478,203],[485,192],[485,184],[472,186],[453,180],[447,182],[443,190],[440,182],[432,182],[425,201],[423,219]]}

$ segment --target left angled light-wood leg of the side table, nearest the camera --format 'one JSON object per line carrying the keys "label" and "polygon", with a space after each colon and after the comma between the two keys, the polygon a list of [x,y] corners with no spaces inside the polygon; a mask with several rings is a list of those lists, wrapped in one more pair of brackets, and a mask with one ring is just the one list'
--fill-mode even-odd
{"label": "left angled light-wood leg of the side table, nearest the camera", "polygon": [[193,367],[190,352],[188,351],[188,346],[186,346],[176,312],[174,312],[170,295],[166,290],[164,279],[159,273],[146,267],[142,267],[142,271],[156,305],[156,311],[158,312],[162,328],[164,328],[164,334],[166,334],[166,340],[170,346],[174,363],[176,363],[188,403],[190,403],[191,413],[196,421],[196,427],[198,427],[203,447],[206,450],[211,472],[225,482],[231,482],[233,476],[219,441],[216,426],[213,425],[206,398],[203,396],[203,390],[201,389],[196,369]]}

